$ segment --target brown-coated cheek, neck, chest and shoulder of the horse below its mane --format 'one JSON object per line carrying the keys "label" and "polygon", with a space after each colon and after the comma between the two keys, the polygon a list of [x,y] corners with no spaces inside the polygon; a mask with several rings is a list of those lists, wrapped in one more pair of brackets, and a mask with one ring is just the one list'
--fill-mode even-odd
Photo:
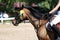
{"label": "brown-coated cheek, neck, chest and shoulder of the horse below its mane", "polygon": [[[54,40],[54,35],[52,32],[46,30],[46,23],[48,22],[48,15],[41,15],[41,19],[31,15],[31,11],[27,8],[22,9],[25,13],[23,14],[23,19],[27,18],[31,24],[37,30],[37,36],[39,40]],[[45,18],[46,17],[46,18]],[[14,20],[16,21],[16,20]]]}

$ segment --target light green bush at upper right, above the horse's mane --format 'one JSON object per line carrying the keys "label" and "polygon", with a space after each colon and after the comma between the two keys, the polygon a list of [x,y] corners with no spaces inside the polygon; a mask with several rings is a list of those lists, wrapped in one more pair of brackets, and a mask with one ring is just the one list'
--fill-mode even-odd
{"label": "light green bush at upper right, above the horse's mane", "polygon": [[55,7],[57,2],[58,2],[58,0],[45,0],[45,1],[38,3],[38,5],[40,7],[47,8],[47,9],[51,10],[52,8]]}

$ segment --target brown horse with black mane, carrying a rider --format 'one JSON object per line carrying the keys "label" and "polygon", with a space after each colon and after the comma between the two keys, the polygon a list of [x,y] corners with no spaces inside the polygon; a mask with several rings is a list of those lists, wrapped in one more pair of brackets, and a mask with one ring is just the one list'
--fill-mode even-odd
{"label": "brown horse with black mane, carrying a rider", "polygon": [[[38,10],[39,11],[38,11]],[[50,20],[51,15],[49,13],[42,13],[42,8],[39,7],[24,7],[16,12],[15,19],[12,21],[13,25],[17,26],[23,20],[28,19],[30,23],[36,29],[36,34],[39,40],[54,40],[53,32],[49,32],[46,29],[46,23]],[[23,11],[21,13],[21,11]]]}

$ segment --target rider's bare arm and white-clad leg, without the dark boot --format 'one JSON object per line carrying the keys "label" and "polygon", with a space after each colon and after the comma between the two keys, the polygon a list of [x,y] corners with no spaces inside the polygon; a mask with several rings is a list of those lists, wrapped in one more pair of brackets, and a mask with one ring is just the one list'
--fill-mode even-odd
{"label": "rider's bare arm and white-clad leg, without the dark boot", "polygon": [[[56,7],[53,8],[49,13],[53,14],[54,12],[56,12],[58,10],[59,7],[60,7],[60,0],[59,0],[58,4],[56,5]],[[57,15],[55,15],[55,16],[56,16],[55,19],[51,22],[51,26],[53,24],[56,25],[57,23],[60,22],[60,10],[57,12]]]}

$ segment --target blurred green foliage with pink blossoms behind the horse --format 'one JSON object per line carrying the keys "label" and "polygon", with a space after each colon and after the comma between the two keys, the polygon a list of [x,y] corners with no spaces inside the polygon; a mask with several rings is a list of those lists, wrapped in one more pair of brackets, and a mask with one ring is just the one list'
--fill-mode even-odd
{"label": "blurred green foliage with pink blossoms behind the horse", "polygon": [[43,10],[50,11],[57,4],[58,0],[0,0],[0,13],[7,13],[14,16],[15,7],[38,5]]}

